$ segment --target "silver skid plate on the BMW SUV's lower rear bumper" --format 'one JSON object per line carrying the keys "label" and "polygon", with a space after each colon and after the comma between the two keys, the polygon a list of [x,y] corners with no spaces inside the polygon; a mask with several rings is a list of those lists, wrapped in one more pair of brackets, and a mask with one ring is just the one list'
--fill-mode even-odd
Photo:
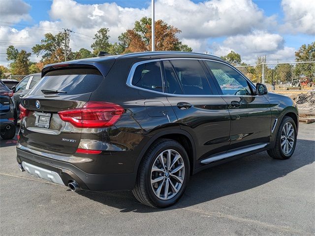
{"label": "silver skid plate on the BMW SUV's lower rear bumper", "polygon": [[29,174],[37,176],[39,178],[46,179],[48,181],[52,181],[57,184],[64,185],[63,180],[61,177],[54,171],[50,171],[38,166],[34,166],[30,163],[27,163],[25,161],[22,162],[22,166],[24,170],[26,170]]}

